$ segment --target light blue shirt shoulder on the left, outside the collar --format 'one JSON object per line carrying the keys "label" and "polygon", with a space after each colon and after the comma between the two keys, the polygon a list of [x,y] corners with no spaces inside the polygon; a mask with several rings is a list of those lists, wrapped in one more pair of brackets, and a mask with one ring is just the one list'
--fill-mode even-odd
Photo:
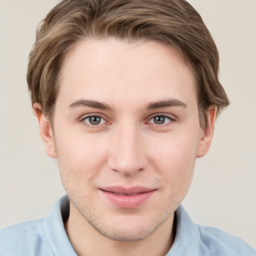
{"label": "light blue shirt shoulder on the left, outside the collar", "polygon": [[27,221],[0,229],[0,255],[52,255],[44,219]]}

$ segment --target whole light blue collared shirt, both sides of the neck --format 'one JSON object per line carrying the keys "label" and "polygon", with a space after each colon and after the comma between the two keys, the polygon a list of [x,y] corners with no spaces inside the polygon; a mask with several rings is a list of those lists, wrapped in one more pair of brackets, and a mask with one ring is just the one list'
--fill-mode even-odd
{"label": "whole light blue collared shirt, both sides of the neck", "polygon": [[[0,256],[77,256],[63,225],[68,214],[69,200],[63,196],[46,218],[1,229]],[[240,238],[193,223],[181,205],[175,218],[175,240],[166,256],[256,256]]]}

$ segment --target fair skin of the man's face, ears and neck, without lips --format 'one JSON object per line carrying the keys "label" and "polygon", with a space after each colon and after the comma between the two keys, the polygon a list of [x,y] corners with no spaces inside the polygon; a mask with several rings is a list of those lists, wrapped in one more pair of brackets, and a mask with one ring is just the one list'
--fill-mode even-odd
{"label": "fair skin of the man's face, ears and neck, without lips", "polygon": [[[152,107],[163,101],[168,105]],[[33,108],[70,198],[65,228],[76,253],[165,255],[174,240],[174,211],[196,157],[209,149],[216,112],[208,109],[201,129],[195,80],[180,53],[155,41],[81,41],[62,65],[54,132],[41,106]],[[155,191],[139,206],[123,208],[99,189],[116,185]]]}

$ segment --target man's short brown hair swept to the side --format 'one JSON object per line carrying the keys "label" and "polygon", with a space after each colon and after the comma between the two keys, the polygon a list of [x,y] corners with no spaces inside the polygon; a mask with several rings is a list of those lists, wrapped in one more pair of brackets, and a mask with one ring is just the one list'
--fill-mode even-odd
{"label": "man's short brown hair swept to the side", "polygon": [[185,0],[62,0],[42,20],[29,55],[27,83],[32,103],[49,118],[66,53],[84,38],[150,39],[176,47],[197,81],[199,121],[229,102],[218,80],[216,45],[198,12]]}

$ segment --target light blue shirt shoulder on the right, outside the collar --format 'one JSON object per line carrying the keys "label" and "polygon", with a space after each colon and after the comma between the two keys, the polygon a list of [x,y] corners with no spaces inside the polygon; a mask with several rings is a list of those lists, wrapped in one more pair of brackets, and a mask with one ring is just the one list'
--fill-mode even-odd
{"label": "light blue shirt shoulder on the right, outside the collar", "polygon": [[254,250],[242,239],[215,227],[196,225],[200,235],[201,249],[214,255],[256,256]]}

